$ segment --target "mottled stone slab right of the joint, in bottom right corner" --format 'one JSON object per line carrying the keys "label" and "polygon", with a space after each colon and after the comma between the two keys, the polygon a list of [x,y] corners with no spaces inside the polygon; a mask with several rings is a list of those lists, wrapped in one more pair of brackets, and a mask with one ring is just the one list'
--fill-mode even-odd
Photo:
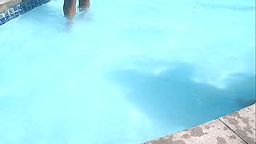
{"label": "mottled stone slab right of the joint, in bottom right corner", "polygon": [[255,144],[255,104],[219,118],[247,143]]}

